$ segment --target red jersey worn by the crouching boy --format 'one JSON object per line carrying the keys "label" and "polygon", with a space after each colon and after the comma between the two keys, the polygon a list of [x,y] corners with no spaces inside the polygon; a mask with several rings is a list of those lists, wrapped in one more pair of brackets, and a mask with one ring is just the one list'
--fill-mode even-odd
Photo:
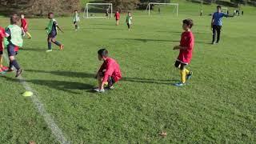
{"label": "red jersey worn by the crouching boy", "polygon": [[103,77],[103,82],[107,82],[107,80],[112,77],[114,82],[118,82],[122,78],[121,70],[113,58],[106,58],[106,61],[103,62],[101,68],[98,71],[106,70]]}

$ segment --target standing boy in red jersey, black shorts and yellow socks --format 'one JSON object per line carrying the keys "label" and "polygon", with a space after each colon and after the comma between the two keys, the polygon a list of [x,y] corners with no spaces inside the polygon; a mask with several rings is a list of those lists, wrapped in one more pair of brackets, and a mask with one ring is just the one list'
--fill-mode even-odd
{"label": "standing boy in red jersey, black shorts and yellow socks", "polygon": [[182,29],[185,31],[182,33],[180,45],[174,46],[174,50],[179,50],[178,58],[174,66],[180,69],[181,74],[181,82],[176,83],[175,86],[185,86],[186,80],[190,79],[193,74],[192,71],[186,69],[186,66],[190,64],[194,49],[194,34],[191,31],[192,26],[192,19],[183,20]]}

